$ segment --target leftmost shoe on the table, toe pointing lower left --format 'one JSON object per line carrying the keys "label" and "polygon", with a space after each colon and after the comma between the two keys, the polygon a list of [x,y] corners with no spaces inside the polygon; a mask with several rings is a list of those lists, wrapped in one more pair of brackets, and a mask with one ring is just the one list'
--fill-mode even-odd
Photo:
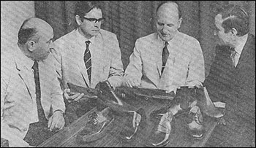
{"label": "leftmost shoe on the table, toe pointing lower left", "polygon": [[93,112],[89,114],[89,122],[77,135],[78,141],[90,142],[101,139],[106,135],[107,131],[113,128],[114,116],[109,107],[101,112]]}

